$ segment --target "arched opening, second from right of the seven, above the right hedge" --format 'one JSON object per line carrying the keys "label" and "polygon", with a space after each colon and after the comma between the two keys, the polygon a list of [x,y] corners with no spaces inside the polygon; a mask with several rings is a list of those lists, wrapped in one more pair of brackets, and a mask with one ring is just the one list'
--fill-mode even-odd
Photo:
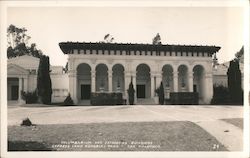
{"label": "arched opening, second from right of the seven, above the right hedge", "polygon": [[188,67],[184,64],[178,67],[178,92],[188,90]]}

